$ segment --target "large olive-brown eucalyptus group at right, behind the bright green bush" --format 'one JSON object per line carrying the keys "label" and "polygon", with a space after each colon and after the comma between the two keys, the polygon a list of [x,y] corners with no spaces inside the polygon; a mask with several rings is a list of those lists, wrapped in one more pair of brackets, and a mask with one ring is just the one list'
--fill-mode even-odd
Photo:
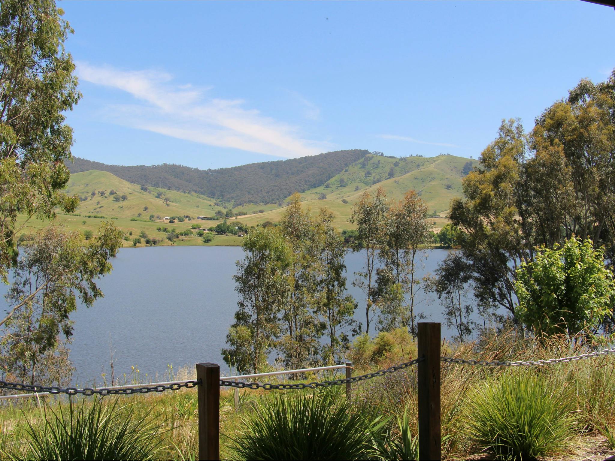
{"label": "large olive-brown eucalyptus group at right, behind the bright green bush", "polygon": [[[533,262],[535,248],[573,235],[615,254],[615,69],[605,82],[582,80],[547,108],[526,134],[519,120],[499,133],[451,202],[472,263],[479,304],[515,314],[514,261]],[[613,324],[613,319],[608,320]]]}

